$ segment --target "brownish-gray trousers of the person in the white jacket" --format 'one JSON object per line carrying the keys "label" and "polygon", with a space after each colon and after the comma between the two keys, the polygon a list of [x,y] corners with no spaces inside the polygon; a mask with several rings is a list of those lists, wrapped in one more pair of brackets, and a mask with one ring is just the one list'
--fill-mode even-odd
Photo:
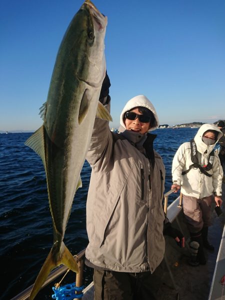
{"label": "brownish-gray trousers of the person in the white jacket", "polygon": [[211,203],[213,196],[201,199],[183,195],[183,212],[190,232],[197,233],[202,227],[211,225]]}

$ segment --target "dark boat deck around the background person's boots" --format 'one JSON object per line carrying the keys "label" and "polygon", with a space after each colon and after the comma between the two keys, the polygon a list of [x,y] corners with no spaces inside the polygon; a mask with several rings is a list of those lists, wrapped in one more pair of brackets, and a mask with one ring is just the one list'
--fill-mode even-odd
{"label": "dark boat deck around the background person's boots", "polygon": [[[166,252],[164,261],[157,269],[160,288],[157,300],[216,300],[225,299],[225,286],[219,281],[225,274],[224,267],[224,224],[225,224],[225,185],[223,184],[223,214],[217,217],[214,206],[212,207],[212,225],[208,229],[208,240],[214,245],[214,252],[204,250],[207,258],[205,265],[190,266],[187,260],[190,256],[188,242],[190,241],[185,225],[184,216],[180,211],[175,218],[178,199],[170,205],[167,216],[172,221],[172,225],[183,232],[186,241],[185,248],[179,248],[171,237],[166,239]],[[173,207],[171,207],[173,206]],[[223,238],[222,238],[223,234]],[[222,239],[221,239],[222,238]],[[221,242],[221,246],[220,246]],[[223,242],[223,245],[222,245]],[[218,254],[219,251],[219,254]],[[217,254],[220,256],[216,263]],[[216,266],[216,275],[214,269]],[[221,275],[222,274],[222,275]],[[213,280],[214,279],[214,280]],[[213,282],[212,282],[213,281]],[[211,289],[211,290],[210,290]],[[87,290],[87,291],[86,291]],[[83,300],[93,299],[92,283],[84,292]]]}

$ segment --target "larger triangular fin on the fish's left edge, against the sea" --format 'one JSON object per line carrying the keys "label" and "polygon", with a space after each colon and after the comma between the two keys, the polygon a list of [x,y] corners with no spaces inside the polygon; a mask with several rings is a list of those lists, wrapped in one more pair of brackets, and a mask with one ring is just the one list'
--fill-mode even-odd
{"label": "larger triangular fin on the fish's left edge, against the sea", "polygon": [[45,167],[45,155],[44,155],[44,126],[42,125],[37,129],[27,140],[25,145],[33,149],[42,159]]}

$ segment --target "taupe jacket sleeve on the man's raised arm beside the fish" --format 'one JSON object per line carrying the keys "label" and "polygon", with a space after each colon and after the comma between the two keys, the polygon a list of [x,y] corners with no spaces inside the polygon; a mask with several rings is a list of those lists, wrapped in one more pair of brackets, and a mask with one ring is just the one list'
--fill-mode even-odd
{"label": "taupe jacket sleeve on the man's raised arm beside the fish", "polygon": [[[109,100],[104,107],[110,111],[110,96],[108,97]],[[90,166],[93,166],[103,155],[110,155],[110,153],[108,153],[110,145],[112,145],[112,135],[108,121],[96,117],[86,156],[86,160],[89,162]]]}

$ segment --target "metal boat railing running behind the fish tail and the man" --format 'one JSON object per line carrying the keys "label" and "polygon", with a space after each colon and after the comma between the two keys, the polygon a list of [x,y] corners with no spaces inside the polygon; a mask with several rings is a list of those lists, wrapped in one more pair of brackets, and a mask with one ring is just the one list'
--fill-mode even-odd
{"label": "metal boat railing running behind the fish tail and the man", "polygon": [[[173,193],[174,190],[175,190],[175,188],[170,189],[163,196],[164,197],[164,212],[165,212],[165,214],[167,214],[168,196],[171,193]],[[180,193],[179,204],[177,206],[181,207],[181,204],[182,204],[182,195]],[[81,250],[78,254],[73,255],[73,257],[75,258],[75,260],[78,264],[78,269],[79,269],[79,272],[76,274],[76,279],[75,279],[75,286],[76,287],[82,286],[82,282],[83,282],[83,266],[84,266],[84,258],[85,258],[85,249],[86,248]],[[64,265],[58,266],[57,268],[55,268],[54,270],[52,270],[50,272],[50,274],[48,275],[46,281],[44,282],[44,284],[42,285],[41,288],[45,287],[50,282],[55,280],[58,276],[66,273],[68,271],[69,271],[69,269]],[[64,278],[64,276],[63,276],[63,278]],[[30,292],[32,290],[32,287],[33,287],[33,284],[30,285],[29,287],[27,287],[25,290],[23,290],[21,293],[19,293],[15,297],[11,298],[11,300],[26,300],[26,299],[28,299],[28,297],[30,295]],[[78,294],[78,293],[81,293],[81,291],[76,291],[76,294]],[[75,295],[74,295],[74,298],[75,298]]]}

